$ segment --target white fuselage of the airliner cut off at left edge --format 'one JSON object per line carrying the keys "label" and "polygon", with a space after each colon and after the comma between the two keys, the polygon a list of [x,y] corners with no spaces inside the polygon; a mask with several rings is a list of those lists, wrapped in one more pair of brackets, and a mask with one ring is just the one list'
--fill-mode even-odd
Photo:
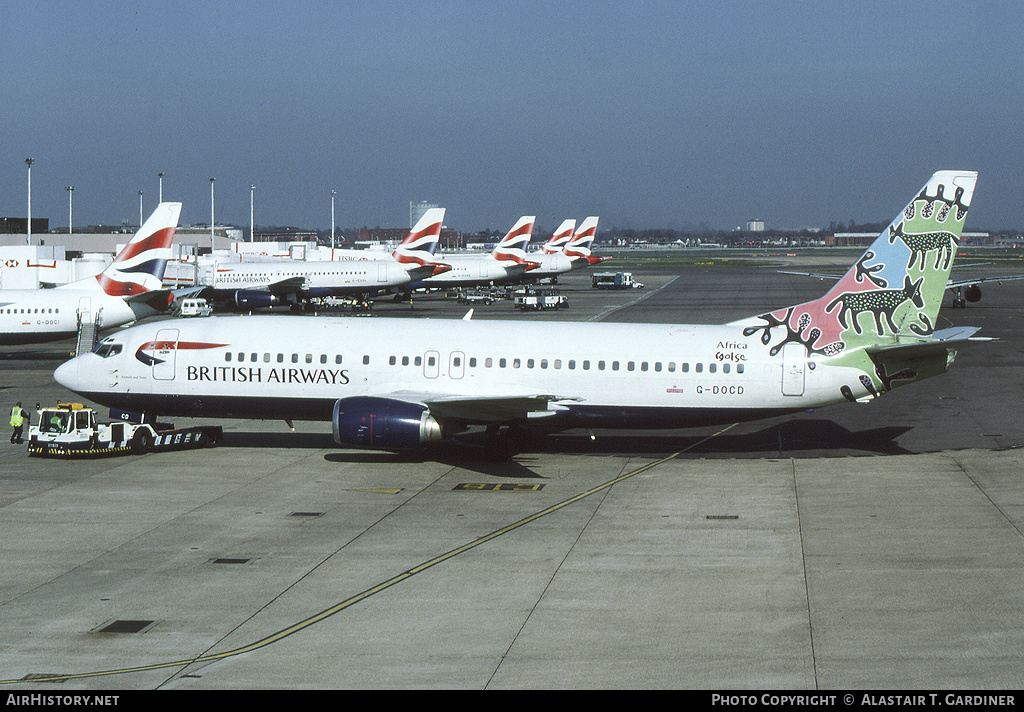
{"label": "white fuselage of the airliner cut off at left edge", "polygon": [[101,328],[135,321],[122,297],[82,287],[0,290],[0,344],[56,341],[78,332],[80,318]]}

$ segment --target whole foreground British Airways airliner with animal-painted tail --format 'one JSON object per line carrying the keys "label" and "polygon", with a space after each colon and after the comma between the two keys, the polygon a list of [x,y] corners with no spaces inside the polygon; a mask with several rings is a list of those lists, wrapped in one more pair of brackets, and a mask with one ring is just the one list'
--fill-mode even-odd
{"label": "whole foreground British Airways airliner with animal-painted tail", "polygon": [[824,296],[721,326],[222,317],[140,325],[56,380],[155,415],[332,421],[345,447],[470,426],[680,428],[880,397],[943,373],[936,331],[977,174],[933,175]]}

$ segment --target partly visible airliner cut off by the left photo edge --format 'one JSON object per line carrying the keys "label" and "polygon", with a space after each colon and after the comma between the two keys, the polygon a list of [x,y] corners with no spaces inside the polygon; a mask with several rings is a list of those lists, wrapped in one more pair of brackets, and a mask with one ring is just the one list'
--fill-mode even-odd
{"label": "partly visible airliner cut off by the left photo edge", "polygon": [[81,322],[109,329],[165,310],[162,280],[180,203],[161,203],[102,273],[54,289],[0,290],[0,344],[74,336]]}

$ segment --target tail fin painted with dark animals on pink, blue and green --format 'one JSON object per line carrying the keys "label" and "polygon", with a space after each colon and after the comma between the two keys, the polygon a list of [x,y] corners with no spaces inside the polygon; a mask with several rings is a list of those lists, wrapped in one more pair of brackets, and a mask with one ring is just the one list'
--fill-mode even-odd
{"label": "tail fin painted with dark animals on pink, blue and green", "polygon": [[802,343],[808,354],[927,337],[935,331],[978,174],[939,171],[822,297],[743,320],[778,352]]}

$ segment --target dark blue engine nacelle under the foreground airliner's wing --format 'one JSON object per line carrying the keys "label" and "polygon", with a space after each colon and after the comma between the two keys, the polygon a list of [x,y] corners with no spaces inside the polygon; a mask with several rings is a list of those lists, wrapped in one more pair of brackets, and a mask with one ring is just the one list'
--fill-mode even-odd
{"label": "dark blue engine nacelle under the foreground airliner's wing", "polygon": [[377,450],[416,450],[442,439],[441,426],[426,406],[372,395],[334,404],[334,442]]}

